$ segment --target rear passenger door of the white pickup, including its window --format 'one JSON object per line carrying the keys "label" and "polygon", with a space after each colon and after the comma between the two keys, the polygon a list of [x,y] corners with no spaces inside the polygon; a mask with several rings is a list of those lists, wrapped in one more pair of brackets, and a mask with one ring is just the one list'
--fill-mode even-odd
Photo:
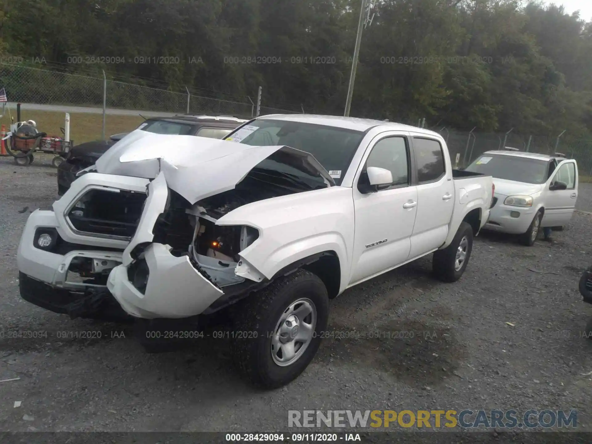
{"label": "rear passenger door of the white pickup, including its window", "polygon": [[413,136],[412,142],[417,169],[417,215],[409,259],[445,242],[455,203],[452,165],[442,142],[424,135]]}

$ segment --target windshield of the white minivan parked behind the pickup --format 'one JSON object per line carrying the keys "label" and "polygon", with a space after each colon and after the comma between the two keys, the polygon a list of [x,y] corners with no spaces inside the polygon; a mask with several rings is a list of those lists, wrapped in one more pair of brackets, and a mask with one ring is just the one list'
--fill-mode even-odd
{"label": "windshield of the white minivan parked behind the pickup", "polygon": [[545,160],[485,153],[465,170],[507,181],[544,184],[547,180],[548,169],[549,162]]}

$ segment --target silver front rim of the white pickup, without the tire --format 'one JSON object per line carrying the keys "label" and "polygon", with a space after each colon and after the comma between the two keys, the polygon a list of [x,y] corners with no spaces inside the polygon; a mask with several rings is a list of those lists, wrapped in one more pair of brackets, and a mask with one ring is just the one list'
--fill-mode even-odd
{"label": "silver front rim of the white pickup, without the tire", "polygon": [[274,362],[281,367],[296,362],[310,345],[316,326],[317,307],[313,301],[301,298],[291,303],[275,325],[271,339]]}

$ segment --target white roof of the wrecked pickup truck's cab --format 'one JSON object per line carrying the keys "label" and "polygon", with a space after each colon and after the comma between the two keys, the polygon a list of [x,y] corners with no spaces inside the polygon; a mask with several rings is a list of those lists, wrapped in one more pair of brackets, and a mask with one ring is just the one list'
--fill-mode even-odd
{"label": "white roof of the wrecked pickup truck's cab", "polygon": [[400,131],[414,131],[416,133],[429,134],[430,136],[438,136],[440,134],[435,131],[426,130],[425,128],[404,125],[402,123],[385,122],[384,120],[364,119],[358,117],[343,117],[340,115],[317,115],[317,114],[270,114],[262,115],[259,118],[276,119],[276,120],[291,120],[294,122],[312,123],[317,125],[325,125],[336,128],[345,128],[348,130],[367,131],[370,128],[377,126],[385,127],[388,130]]}

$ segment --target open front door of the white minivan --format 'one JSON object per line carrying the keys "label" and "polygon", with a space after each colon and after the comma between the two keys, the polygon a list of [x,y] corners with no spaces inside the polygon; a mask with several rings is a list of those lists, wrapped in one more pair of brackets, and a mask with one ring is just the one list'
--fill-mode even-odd
{"label": "open front door of the white minivan", "polygon": [[[552,184],[563,182],[567,189],[549,189]],[[578,166],[575,160],[560,162],[551,178],[545,184],[545,217],[543,227],[562,227],[569,223],[574,214],[578,198]]]}

